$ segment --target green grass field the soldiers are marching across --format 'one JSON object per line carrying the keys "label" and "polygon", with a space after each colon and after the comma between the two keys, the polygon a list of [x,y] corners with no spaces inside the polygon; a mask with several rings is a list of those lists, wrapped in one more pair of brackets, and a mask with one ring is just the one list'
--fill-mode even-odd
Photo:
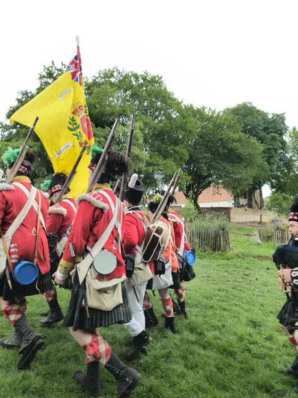
{"label": "green grass field the soldiers are marching across", "polygon": [[[272,245],[254,245],[251,231],[231,227],[228,254],[197,254],[197,278],[186,283],[189,319],[176,319],[176,335],[163,329],[162,319],[150,330],[148,356],[130,363],[142,375],[133,397],[297,397],[295,381],[283,375],[295,352],[276,319],[285,297],[270,260]],[[63,310],[68,296],[59,290]],[[88,397],[72,380],[74,370],[85,369],[83,350],[61,325],[39,328],[46,303],[39,297],[29,301],[28,318],[46,348],[28,371],[17,370],[17,352],[0,351],[0,397]],[[159,299],[152,301],[161,314]],[[0,337],[11,332],[1,316]],[[101,332],[125,361],[126,329],[116,325]],[[115,380],[103,368],[101,390],[102,397],[116,397]]]}

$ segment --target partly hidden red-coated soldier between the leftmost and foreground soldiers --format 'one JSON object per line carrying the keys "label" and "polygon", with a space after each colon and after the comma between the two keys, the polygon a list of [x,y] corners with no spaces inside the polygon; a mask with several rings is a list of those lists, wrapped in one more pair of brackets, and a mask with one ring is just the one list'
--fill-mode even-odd
{"label": "partly hidden red-coated soldier between the leftmost and foreground soldiers", "polygon": [[[77,212],[77,206],[75,205],[74,198],[70,196],[69,189],[66,195],[57,202],[63,185],[67,180],[65,173],[55,173],[51,180],[43,182],[41,189],[47,191],[54,205],[48,210],[47,220],[47,231],[48,234],[57,234],[57,249],[50,252],[50,274],[53,275],[57,271],[59,260],[62,257],[68,234],[74,220],[74,216]],[[41,319],[39,324],[43,328],[50,328],[54,323],[62,321],[64,316],[61,311],[57,299],[57,289],[52,287],[45,293],[46,302],[49,305],[50,312],[48,312],[45,319]]]}

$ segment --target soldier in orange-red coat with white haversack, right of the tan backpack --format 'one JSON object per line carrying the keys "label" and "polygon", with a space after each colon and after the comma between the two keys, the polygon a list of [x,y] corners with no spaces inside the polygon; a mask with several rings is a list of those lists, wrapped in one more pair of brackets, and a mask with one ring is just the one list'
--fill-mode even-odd
{"label": "soldier in orange-red coat with white haversack, right of the tan backpack", "polygon": [[[149,218],[152,220],[155,211],[159,207],[159,203],[161,202],[162,196],[157,193],[149,202],[148,210],[149,210]],[[163,253],[159,260],[164,263],[165,266],[165,274],[162,276],[155,275],[152,278],[152,283],[148,284],[148,287],[151,290],[158,290],[159,296],[161,298],[161,303],[163,305],[163,312],[165,316],[165,328],[170,329],[170,331],[175,334],[175,325],[174,319],[175,315],[173,312],[173,304],[172,298],[170,296],[169,287],[175,283],[175,281],[179,281],[179,265],[178,259],[175,254],[175,232],[172,226],[172,223],[168,220],[168,214],[166,210],[163,211],[157,224],[161,225],[167,230],[167,242],[165,248],[163,249]],[[155,326],[159,323],[157,316],[153,310],[152,304],[150,302],[150,298],[148,293],[146,292],[143,299],[143,310],[146,316],[146,325],[147,327]]]}

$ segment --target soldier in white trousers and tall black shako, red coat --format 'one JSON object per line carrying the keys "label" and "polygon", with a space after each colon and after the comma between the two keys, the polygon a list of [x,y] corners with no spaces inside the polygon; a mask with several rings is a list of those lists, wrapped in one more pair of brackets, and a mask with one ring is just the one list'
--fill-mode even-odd
{"label": "soldier in white trousers and tall black shako, red coat", "polygon": [[145,316],[143,313],[143,296],[146,285],[152,278],[150,265],[141,260],[143,241],[149,226],[149,221],[141,211],[140,203],[143,197],[143,188],[139,181],[134,187],[128,185],[124,205],[128,208],[125,217],[123,247],[126,255],[135,257],[135,271],[128,281],[128,299],[132,309],[132,320],[125,323],[132,335],[132,345],[128,350],[127,358],[137,358],[139,352],[146,353],[146,346],[152,340],[145,330]]}

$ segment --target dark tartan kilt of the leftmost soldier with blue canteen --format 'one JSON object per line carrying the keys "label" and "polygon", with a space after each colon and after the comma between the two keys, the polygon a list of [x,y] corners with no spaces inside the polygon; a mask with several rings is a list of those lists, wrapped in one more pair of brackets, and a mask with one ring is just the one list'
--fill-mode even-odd
{"label": "dark tartan kilt of the leftmost soldier with blue canteen", "polygon": [[30,283],[30,285],[21,285],[20,283],[17,283],[17,281],[14,281],[12,276],[10,276],[10,281],[12,284],[12,290],[10,290],[10,287],[8,286],[6,274],[4,274],[0,279],[0,296],[3,296],[3,300],[5,301],[11,301],[15,297],[26,297],[34,296],[35,294],[43,294],[53,287],[50,272],[47,272],[43,275],[39,271],[37,281]]}

